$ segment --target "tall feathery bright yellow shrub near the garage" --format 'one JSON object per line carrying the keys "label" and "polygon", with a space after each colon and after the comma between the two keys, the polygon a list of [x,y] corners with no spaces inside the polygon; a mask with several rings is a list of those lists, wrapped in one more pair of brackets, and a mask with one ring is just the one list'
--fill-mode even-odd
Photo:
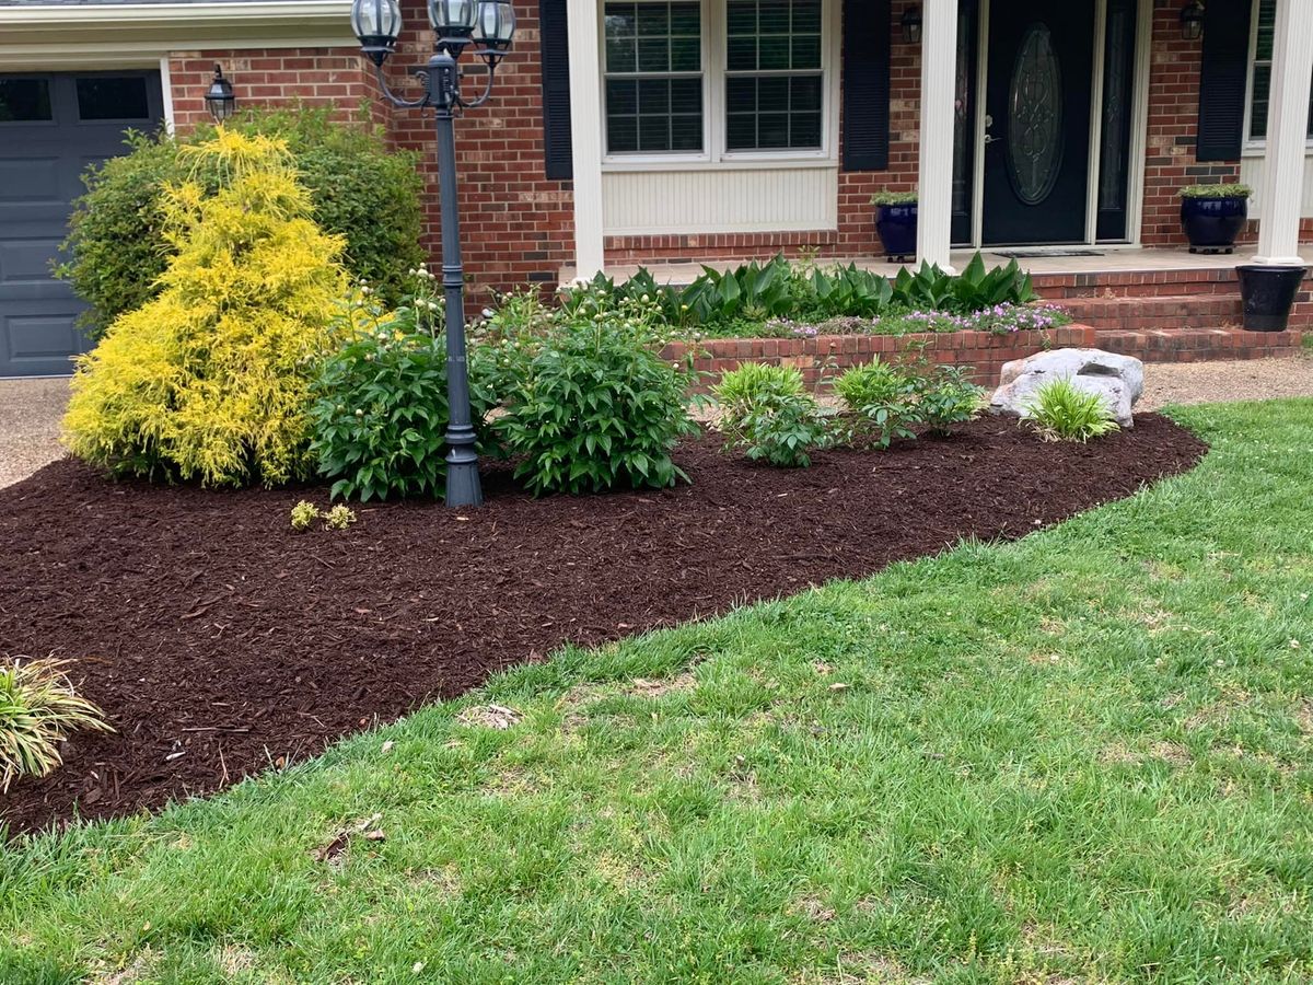
{"label": "tall feathery bright yellow shrub near the garage", "polygon": [[163,292],[77,360],[64,440],[116,473],[276,485],[305,475],[310,378],[345,294],[341,239],[310,218],[281,141],[185,148],[226,176],[167,190]]}

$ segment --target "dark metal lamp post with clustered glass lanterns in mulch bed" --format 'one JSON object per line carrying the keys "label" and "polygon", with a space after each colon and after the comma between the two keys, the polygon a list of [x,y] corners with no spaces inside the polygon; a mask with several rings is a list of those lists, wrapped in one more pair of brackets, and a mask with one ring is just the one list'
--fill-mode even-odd
{"label": "dark metal lamp post with clustered glass lanterns in mulch bed", "polygon": [[[442,292],[446,296],[446,504],[482,506],[474,426],[470,419],[470,377],[465,348],[465,271],[461,267],[460,210],[456,201],[456,129],[462,109],[483,105],[492,93],[492,76],[515,35],[515,11],[509,0],[428,0],[428,20],[437,35],[432,58],[420,76],[424,96],[403,100],[387,87],[383,62],[397,51],[402,12],[397,0],[355,0],[351,25],[360,50],[374,63],[378,84],[394,106],[433,109],[437,122],[439,205],[442,222]],[[461,96],[457,60],[470,43],[488,67],[483,93],[474,100]]]}

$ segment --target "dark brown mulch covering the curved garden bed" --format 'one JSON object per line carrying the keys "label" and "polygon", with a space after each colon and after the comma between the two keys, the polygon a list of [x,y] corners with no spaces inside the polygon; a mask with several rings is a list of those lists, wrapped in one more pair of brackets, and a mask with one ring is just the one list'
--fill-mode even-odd
{"label": "dark brown mulch covering the curved garden bed", "polygon": [[691,486],[533,500],[494,474],[481,511],[364,507],[343,533],[289,527],[322,490],[116,485],[56,462],[0,491],[0,655],[76,658],[117,734],[75,737],[0,817],[18,833],[209,793],[566,641],[1018,537],[1203,452],[1155,415],[1090,445],[986,419],[804,470],[702,441],[676,456]]}

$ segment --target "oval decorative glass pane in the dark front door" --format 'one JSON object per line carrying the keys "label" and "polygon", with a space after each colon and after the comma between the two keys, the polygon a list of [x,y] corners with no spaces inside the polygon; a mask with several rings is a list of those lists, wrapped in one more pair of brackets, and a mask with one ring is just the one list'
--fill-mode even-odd
{"label": "oval decorative glass pane in the dark front door", "polygon": [[1039,205],[1062,167],[1062,70],[1048,25],[1022,38],[1007,93],[1007,172],[1016,197]]}

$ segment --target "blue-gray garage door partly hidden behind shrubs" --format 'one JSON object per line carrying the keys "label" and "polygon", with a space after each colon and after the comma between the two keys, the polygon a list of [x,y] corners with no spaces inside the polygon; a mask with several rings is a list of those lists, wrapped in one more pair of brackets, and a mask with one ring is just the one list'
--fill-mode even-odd
{"label": "blue-gray garage door partly hidden behind shrubs", "polygon": [[83,305],[50,273],[70,204],[161,113],[159,72],[0,75],[0,377],[72,372]]}

